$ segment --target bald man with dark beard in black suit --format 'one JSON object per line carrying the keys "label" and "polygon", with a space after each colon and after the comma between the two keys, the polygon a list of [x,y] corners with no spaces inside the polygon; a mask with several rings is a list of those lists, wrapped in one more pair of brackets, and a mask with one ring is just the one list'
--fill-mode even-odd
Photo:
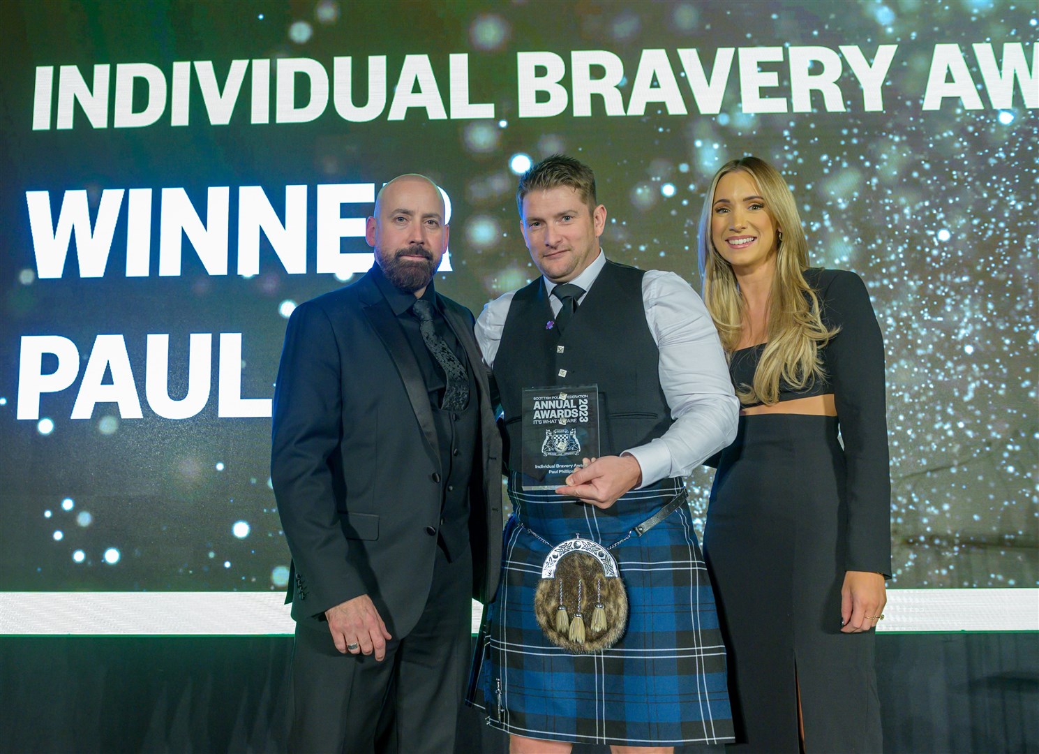
{"label": "bald man with dark beard in black suit", "polygon": [[379,750],[454,749],[470,598],[498,577],[501,440],[473,315],[434,290],[444,214],[428,178],[390,181],[367,224],[375,264],[289,319],[271,482],[296,752],[375,751],[380,720]]}

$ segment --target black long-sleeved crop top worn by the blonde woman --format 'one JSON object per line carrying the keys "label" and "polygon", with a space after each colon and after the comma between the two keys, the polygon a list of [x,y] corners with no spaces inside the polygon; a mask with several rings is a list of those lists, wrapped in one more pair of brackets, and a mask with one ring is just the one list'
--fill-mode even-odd
{"label": "black long-sleeved crop top worn by the blonde woman", "polygon": [[[841,331],[820,348],[826,376],[797,392],[779,385],[779,400],[833,393],[847,464],[846,569],[890,574],[890,469],[884,342],[865,285],[843,269],[806,269],[823,323]],[[732,354],[734,385],[750,385],[764,344]]]}

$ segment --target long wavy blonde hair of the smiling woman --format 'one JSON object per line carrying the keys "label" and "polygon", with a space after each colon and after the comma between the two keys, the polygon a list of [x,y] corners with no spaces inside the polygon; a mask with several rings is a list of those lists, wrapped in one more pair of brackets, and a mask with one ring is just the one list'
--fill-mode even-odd
{"label": "long wavy blonde hair of the smiling woman", "polygon": [[757,363],[753,385],[738,385],[736,391],[743,404],[772,405],[779,400],[780,380],[795,390],[804,390],[815,380],[825,378],[819,348],[837,330],[823,323],[819,296],[804,279],[808,244],[794,194],[775,167],[757,157],[743,157],[726,162],[711,181],[697,239],[703,303],[718,328],[725,354],[731,359],[740,343],[747,320],[747,302],[731,265],[714,248],[711,217],[718,181],[734,171],[743,171],[753,179],[776,227],[781,230],[776,234],[775,278],[769,293],[768,342]]}

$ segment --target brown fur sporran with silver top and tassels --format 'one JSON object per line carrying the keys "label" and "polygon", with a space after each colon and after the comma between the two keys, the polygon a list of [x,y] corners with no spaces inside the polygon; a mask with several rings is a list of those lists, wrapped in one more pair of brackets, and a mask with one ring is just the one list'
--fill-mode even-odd
{"label": "brown fur sporran with silver top and tassels", "polygon": [[613,555],[581,538],[554,547],[541,566],[534,616],[545,638],[568,652],[616,644],[628,627],[628,592]]}

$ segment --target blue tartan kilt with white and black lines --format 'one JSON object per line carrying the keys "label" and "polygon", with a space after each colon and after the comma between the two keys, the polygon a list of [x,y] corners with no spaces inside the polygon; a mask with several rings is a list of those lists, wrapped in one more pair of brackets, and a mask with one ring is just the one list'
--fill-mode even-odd
{"label": "blue tartan kilt with white and black lines", "polygon": [[501,584],[484,610],[467,703],[488,725],[529,738],[617,746],[732,740],[725,647],[714,592],[680,506],[611,549],[628,591],[628,629],[611,648],[572,654],[551,644],[534,592],[551,547],[575,534],[605,546],[623,539],[675,494],[681,479],[636,490],[608,511],[509,479]]}

